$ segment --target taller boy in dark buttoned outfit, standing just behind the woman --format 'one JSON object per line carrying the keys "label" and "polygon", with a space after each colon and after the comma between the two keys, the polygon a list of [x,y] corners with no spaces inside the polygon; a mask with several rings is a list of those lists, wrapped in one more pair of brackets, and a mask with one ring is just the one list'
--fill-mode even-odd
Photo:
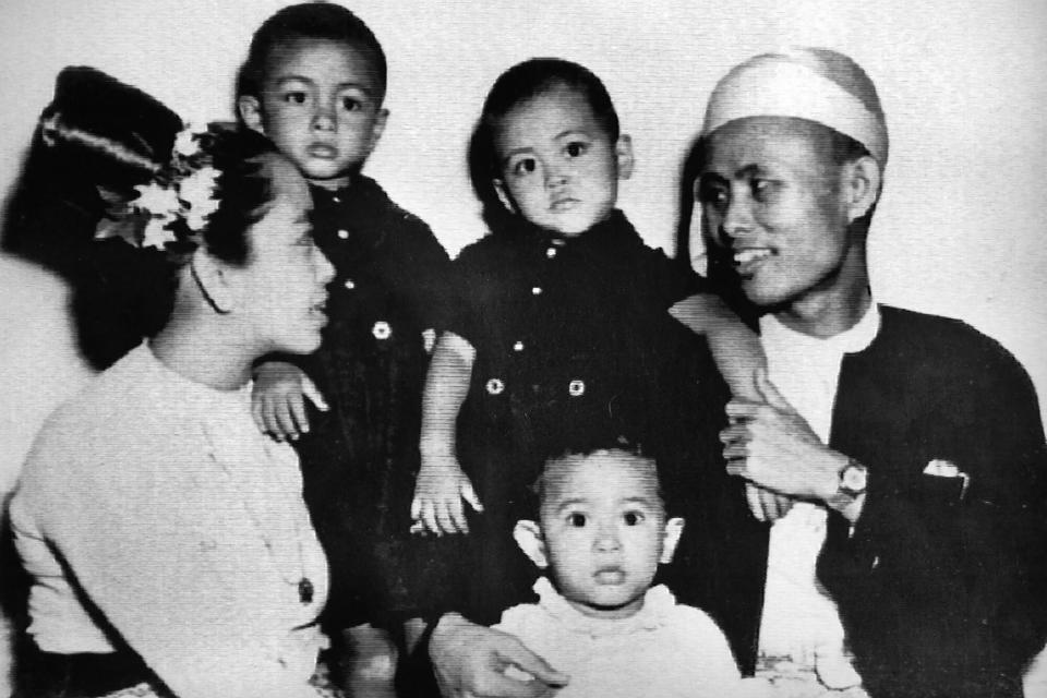
{"label": "taller boy in dark buttoned outfit, standing just behind the woman", "polygon": [[428,542],[411,540],[408,509],[449,264],[429,227],[361,173],[388,118],[385,91],[374,34],[326,2],[269,17],[237,88],[243,124],[309,180],[313,234],[336,269],[320,350],[260,362],[254,414],[263,431],[296,443],[330,563],[324,623],[341,658],[333,664],[345,660],[350,688],[366,695],[392,695],[396,653],[385,628],[421,615],[412,590],[438,569]]}

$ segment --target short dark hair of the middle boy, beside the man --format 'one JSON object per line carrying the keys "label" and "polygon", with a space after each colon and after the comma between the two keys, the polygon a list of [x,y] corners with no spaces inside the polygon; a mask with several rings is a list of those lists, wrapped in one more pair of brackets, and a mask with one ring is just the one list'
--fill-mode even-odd
{"label": "short dark hair of the middle boy, beside the man", "polygon": [[612,142],[618,140],[618,112],[614,109],[607,88],[592,71],[561,58],[532,58],[502,73],[494,81],[483,103],[480,128],[484,132],[485,146],[490,149],[492,158],[490,161],[492,177],[501,176],[494,136],[502,119],[517,105],[558,85],[576,89],[581,94],[589,103],[592,113],[603,127],[607,137]]}

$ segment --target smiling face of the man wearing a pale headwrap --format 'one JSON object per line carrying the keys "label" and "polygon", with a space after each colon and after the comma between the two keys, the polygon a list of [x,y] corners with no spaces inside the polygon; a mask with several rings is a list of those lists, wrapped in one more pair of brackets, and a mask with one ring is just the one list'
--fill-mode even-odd
{"label": "smiling face of the man wearing a pale headwrap", "polygon": [[829,145],[816,124],[782,117],[739,119],[708,136],[695,196],[757,305],[790,305],[855,280],[859,265],[849,254],[863,243],[849,234]]}

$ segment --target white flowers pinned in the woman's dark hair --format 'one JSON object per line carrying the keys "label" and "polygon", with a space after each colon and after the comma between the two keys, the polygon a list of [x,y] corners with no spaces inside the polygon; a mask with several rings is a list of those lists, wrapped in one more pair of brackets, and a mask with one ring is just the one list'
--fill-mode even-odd
{"label": "white flowers pinned in the woman's dark hair", "polygon": [[183,129],[174,139],[169,165],[148,183],[137,184],[133,198],[111,206],[95,238],[120,237],[160,251],[194,248],[196,236],[219,206],[215,193],[220,172],[201,147],[201,141],[210,136],[192,127]]}

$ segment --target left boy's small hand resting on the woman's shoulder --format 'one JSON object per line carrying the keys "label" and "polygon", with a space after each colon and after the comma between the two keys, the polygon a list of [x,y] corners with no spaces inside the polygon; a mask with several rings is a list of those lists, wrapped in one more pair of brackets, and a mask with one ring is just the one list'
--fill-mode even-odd
{"label": "left boy's small hand resting on the woman's shoulder", "polygon": [[254,372],[251,414],[258,431],[275,441],[309,433],[305,398],[327,411],[327,402],[305,372],[286,361],[266,361]]}

